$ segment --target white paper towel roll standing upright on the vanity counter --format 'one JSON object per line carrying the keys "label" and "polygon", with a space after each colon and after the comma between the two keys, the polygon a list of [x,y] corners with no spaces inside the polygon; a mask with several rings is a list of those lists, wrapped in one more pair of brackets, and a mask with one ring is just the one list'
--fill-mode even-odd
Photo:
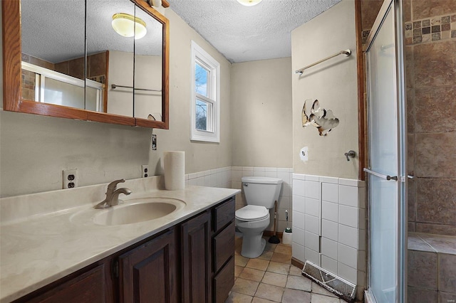
{"label": "white paper towel roll standing upright on the vanity counter", "polygon": [[165,188],[169,191],[185,188],[185,151],[163,152]]}

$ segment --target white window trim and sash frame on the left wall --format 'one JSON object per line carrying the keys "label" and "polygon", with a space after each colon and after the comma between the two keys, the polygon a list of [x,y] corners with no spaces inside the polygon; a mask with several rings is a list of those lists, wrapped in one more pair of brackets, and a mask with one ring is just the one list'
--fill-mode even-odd
{"label": "white window trim and sash frame on the left wall", "polygon": [[[217,62],[211,55],[209,55],[205,50],[192,41],[192,68],[191,68],[191,87],[192,87],[192,100],[190,106],[190,119],[192,121],[192,127],[190,127],[190,140],[192,141],[202,141],[202,142],[220,142],[220,63]],[[214,119],[212,125],[212,132],[199,130],[196,128],[196,98],[207,101],[207,98],[197,94],[195,87],[195,64],[196,58],[198,58],[204,65],[211,70],[210,78],[207,79],[207,84],[209,85],[209,91],[211,95],[209,96],[213,106]],[[214,98],[214,100],[212,100]],[[209,115],[209,113],[208,113]]]}

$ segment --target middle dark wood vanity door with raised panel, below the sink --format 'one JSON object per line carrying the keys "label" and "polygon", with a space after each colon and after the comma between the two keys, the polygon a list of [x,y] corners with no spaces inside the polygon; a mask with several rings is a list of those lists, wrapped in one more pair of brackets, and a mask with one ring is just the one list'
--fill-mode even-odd
{"label": "middle dark wood vanity door with raised panel, below the sink", "polygon": [[119,257],[120,302],[177,302],[175,231]]}

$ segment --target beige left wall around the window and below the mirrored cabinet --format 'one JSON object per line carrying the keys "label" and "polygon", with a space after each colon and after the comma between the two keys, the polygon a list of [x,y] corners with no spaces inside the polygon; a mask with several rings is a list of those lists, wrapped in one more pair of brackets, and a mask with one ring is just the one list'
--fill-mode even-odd
{"label": "beige left wall around the window and below the mirrored cabinet", "polygon": [[[0,112],[0,196],[62,188],[62,170],[77,168],[79,185],[141,176],[141,164],[160,174],[162,151],[186,152],[186,173],[231,165],[230,63],[167,9],[170,19],[170,129],[142,129],[15,112]],[[220,144],[190,142],[190,41],[221,63]],[[1,76],[0,76],[1,77]],[[1,80],[1,79],[0,79]],[[158,150],[150,150],[157,134]]]}

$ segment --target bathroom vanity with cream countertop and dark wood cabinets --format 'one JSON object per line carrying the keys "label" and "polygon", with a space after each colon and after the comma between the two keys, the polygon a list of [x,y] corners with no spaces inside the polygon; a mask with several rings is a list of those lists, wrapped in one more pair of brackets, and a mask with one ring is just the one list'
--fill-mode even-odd
{"label": "bathroom vanity with cream countertop and dark wood cabinets", "polygon": [[[144,179],[125,183],[133,192],[145,186]],[[103,187],[88,186],[91,193],[82,196],[102,195]],[[94,224],[94,201],[2,223],[1,302],[224,302],[234,285],[236,193],[149,188],[133,198],[179,199],[185,206],[124,225]],[[1,216],[43,196],[0,199]]]}

